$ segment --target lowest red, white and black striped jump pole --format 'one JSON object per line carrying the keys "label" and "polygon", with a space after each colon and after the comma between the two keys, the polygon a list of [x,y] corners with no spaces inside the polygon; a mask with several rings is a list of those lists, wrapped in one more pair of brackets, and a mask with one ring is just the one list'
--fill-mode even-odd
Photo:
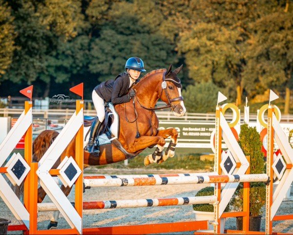
{"label": "lowest red, white and black striped jump pole", "polygon": [[[164,207],[190,204],[213,204],[217,202],[217,197],[175,197],[156,199],[133,199],[115,201],[84,202],[84,210],[114,209],[114,208],[138,208],[138,207]],[[38,211],[58,211],[54,203],[38,203]]]}

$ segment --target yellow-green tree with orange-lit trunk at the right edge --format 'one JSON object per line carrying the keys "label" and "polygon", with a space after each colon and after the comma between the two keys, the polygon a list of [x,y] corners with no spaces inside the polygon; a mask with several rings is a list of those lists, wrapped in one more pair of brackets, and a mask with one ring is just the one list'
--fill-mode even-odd
{"label": "yellow-green tree with orange-lit trunk at the right edge", "polygon": [[252,26],[255,36],[249,56],[255,72],[250,75],[251,79],[264,88],[285,91],[284,113],[288,114],[290,89],[293,88],[293,4],[281,1],[273,12]]}

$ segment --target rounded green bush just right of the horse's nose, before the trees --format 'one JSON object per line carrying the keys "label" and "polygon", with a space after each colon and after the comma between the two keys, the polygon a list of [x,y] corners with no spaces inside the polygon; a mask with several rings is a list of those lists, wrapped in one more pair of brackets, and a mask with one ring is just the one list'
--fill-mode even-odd
{"label": "rounded green bush just right of the horse's nose, before the trees", "polygon": [[213,112],[217,105],[219,88],[212,82],[189,85],[182,92],[184,105],[189,113]]}

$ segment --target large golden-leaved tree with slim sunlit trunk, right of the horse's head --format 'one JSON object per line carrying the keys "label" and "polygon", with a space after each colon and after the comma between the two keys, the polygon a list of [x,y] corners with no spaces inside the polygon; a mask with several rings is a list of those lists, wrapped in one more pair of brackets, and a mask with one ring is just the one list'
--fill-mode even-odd
{"label": "large golden-leaved tree with slim sunlit trunk, right of the horse's head", "polygon": [[243,92],[242,72],[246,65],[249,23],[257,17],[256,0],[193,1],[199,19],[181,34],[180,52],[185,53],[189,76],[213,81],[227,89],[238,103]]}

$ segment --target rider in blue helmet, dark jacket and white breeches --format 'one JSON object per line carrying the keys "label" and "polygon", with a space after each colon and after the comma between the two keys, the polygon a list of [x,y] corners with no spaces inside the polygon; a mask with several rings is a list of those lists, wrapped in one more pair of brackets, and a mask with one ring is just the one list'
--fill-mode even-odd
{"label": "rider in blue helmet, dark jacket and white breeches", "polygon": [[92,99],[97,111],[97,118],[94,120],[90,130],[89,140],[84,150],[88,153],[99,153],[99,145],[94,149],[96,136],[105,119],[105,102],[113,104],[129,102],[135,96],[135,91],[129,89],[139,78],[141,72],[145,72],[144,62],[138,57],[131,57],[126,61],[125,71],[120,73],[115,80],[108,80],[96,86],[92,93]]}

